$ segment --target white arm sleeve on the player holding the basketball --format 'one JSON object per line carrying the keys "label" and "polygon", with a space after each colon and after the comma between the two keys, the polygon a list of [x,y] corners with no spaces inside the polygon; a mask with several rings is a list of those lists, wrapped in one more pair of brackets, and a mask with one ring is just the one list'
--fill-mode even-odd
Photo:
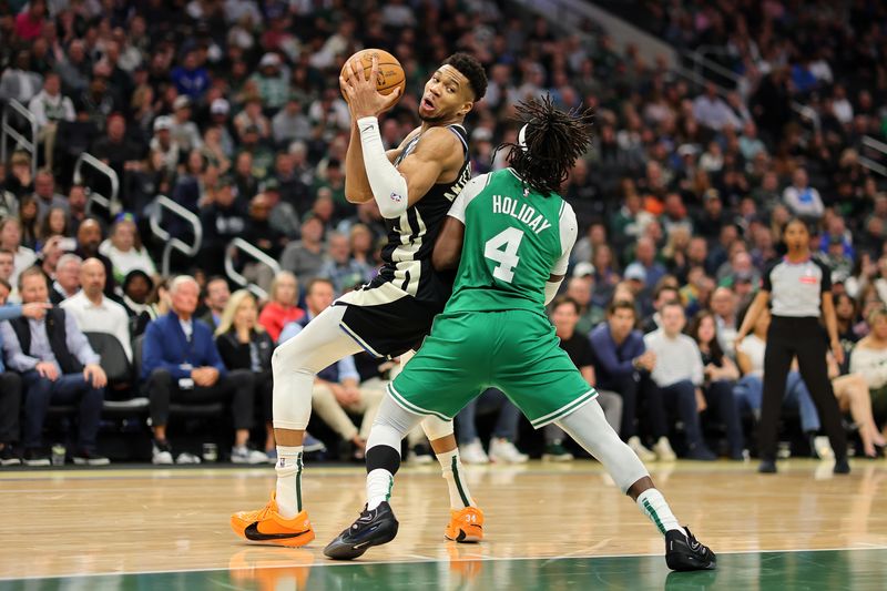
{"label": "white arm sleeve on the player holding the basketball", "polygon": [[383,217],[396,220],[409,206],[407,180],[385,154],[379,135],[379,120],[375,116],[358,119],[357,129],[360,130],[360,145],[364,149],[364,167],[367,170],[373,196],[379,204],[379,213]]}

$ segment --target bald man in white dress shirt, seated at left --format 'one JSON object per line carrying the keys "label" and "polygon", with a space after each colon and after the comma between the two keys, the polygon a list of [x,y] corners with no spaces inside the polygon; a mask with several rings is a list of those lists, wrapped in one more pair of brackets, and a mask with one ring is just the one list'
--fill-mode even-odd
{"label": "bald man in white dress shirt, seated at left", "polygon": [[86,258],[80,266],[82,289],[60,304],[71,314],[83,333],[105,333],[116,338],[132,361],[130,316],[126,310],[104,295],[104,265],[98,258]]}

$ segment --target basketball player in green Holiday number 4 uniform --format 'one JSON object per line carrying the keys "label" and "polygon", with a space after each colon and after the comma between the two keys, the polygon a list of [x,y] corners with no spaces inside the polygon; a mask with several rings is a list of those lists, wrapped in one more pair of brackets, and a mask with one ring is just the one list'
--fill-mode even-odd
{"label": "basketball player in green Holiday number 4 uniform", "polygon": [[558,194],[591,140],[588,113],[564,113],[549,98],[518,105],[526,124],[510,167],[473,179],[453,202],[435,247],[437,268],[459,263],[452,297],[422,347],[388,387],[367,442],[367,506],[324,550],[348,560],[391,541],[388,500],[400,441],[424,417],[452,418],[496,387],[537,429],[555,422],[606,468],[665,537],[673,570],[713,569],[714,552],[679,526],[638,456],[604,418],[590,388],[558,346],[544,306],[567,273],[577,236],[572,207]]}

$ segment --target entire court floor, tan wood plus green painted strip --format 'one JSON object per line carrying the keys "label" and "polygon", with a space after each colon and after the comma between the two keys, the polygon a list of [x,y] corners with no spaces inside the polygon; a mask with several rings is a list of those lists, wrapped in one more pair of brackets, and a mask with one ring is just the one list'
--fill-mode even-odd
{"label": "entire court floor, tan wood plus green painted strip", "polygon": [[849,477],[806,460],[776,476],[651,468],[718,553],[716,572],[670,575],[660,534],[592,461],[469,467],[487,514],[487,540],[470,546],[442,537],[437,467],[407,468],[398,538],[351,565],[322,550],[364,502],[357,467],[307,467],[317,540],[304,549],[249,546],[228,528],[232,511],[266,502],[271,467],[110,467],[0,472],[0,589],[887,589],[887,461],[854,461]]}

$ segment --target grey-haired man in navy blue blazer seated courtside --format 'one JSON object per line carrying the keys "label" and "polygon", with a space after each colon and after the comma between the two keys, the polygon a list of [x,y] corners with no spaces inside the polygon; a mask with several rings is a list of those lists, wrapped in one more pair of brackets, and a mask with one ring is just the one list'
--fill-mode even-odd
{"label": "grey-haired man in navy blue blazer seated courtside", "polygon": [[[142,351],[142,379],[151,400],[154,430],[152,461],[172,463],[172,447],[166,439],[170,403],[230,403],[235,440],[231,459],[235,463],[261,463],[267,456],[246,446],[253,427],[253,374],[227,371],[213,333],[194,318],[200,287],[193,277],[180,275],[170,284],[172,309],[147,325]],[[180,454],[179,463],[196,463],[196,457]]]}

